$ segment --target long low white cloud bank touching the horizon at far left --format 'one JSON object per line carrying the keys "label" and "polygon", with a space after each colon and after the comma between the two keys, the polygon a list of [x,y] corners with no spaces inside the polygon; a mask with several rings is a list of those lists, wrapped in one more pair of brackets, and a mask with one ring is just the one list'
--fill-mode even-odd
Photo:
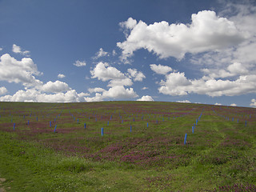
{"label": "long low white cloud bank touching the horizon at far left", "polygon": [[45,94],[40,90],[18,90],[14,95],[0,97],[2,102],[85,102],[88,94],[68,90],[65,94]]}

